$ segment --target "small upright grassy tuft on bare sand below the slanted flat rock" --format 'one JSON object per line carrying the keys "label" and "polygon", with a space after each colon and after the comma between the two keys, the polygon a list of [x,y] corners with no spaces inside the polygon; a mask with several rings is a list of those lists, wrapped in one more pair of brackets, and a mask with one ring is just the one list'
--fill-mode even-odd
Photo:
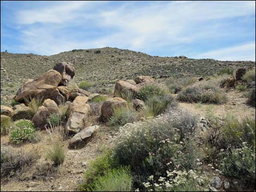
{"label": "small upright grassy tuft on bare sand below the slanted flat rock", "polygon": [[55,165],[63,164],[65,159],[65,150],[61,142],[55,142],[47,149],[46,158],[52,160]]}

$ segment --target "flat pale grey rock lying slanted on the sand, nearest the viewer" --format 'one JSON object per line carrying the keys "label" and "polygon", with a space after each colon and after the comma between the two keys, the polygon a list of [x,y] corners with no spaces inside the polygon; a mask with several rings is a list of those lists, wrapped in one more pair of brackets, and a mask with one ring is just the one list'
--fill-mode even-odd
{"label": "flat pale grey rock lying slanted on the sand, nearest the viewer", "polygon": [[94,136],[99,126],[94,125],[83,129],[81,132],[74,135],[71,139],[69,147],[70,148],[81,148],[85,146],[90,139]]}

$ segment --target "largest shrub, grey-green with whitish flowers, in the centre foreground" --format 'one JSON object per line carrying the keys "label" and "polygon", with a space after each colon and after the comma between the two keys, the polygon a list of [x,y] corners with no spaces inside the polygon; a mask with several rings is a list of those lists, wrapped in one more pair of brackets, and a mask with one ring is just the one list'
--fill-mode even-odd
{"label": "largest shrub, grey-green with whitish flowers, in the centre foreground", "polygon": [[170,112],[120,129],[113,157],[119,165],[130,166],[137,186],[142,188],[150,175],[159,178],[168,169],[196,168],[198,154],[193,138],[180,137],[176,121],[182,121],[181,114]]}

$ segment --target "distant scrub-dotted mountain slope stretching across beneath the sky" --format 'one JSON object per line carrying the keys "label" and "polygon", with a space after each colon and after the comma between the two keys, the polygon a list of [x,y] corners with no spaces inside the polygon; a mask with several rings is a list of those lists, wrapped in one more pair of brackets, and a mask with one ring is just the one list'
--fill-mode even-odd
{"label": "distant scrub-dotted mountain slope stretching across beneath the sky", "polygon": [[254,61],[218,61],[158,57],[118,48],[75,49],[51,56],[1,52],[1,87],[6,83],[22,83],[53,68],[59,61],[75,66],[76,80],[99,82],[133,78],[138,75],[213,75],[228,68],[255,66]]}

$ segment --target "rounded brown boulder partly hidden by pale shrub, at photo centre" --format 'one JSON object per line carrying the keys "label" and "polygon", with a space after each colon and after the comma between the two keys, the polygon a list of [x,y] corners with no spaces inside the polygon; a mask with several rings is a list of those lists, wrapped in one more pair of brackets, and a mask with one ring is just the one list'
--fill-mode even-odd
{"label": "rounded brown boulder partly hidden by pale shrub, at photo centre", "polygon": [[127,102],[120,97],[108,98],[101,106],[102,121],[107,121],[113,115],[113,109],[118,107],[127,107]]}

